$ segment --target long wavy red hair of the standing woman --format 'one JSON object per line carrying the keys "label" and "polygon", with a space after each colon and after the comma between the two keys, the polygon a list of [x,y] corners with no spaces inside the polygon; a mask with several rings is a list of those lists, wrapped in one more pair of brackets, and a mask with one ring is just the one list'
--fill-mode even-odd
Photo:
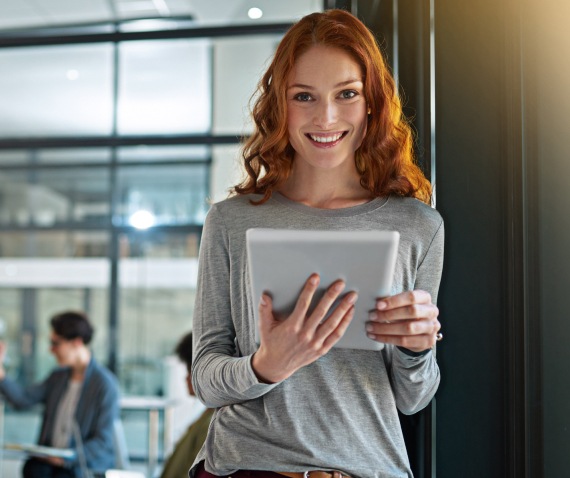
{"label": "long wavy red hair of the standing woman", "polygon": [[242,156],[247,177],[237,194],[263,194],[267,201],[289,176],[295,151],[287,130],[287,82],[295,61],[314,45],[339,48],[360,65],[364,97],[370,109],[366,136],[355,154],[360,184],[372,197],[431,200],[431,185],[416,164],[413,136],[402,113],[398,91],[374,35],[344,10],[303,17],[285,34],[257,88],[254,133]]}

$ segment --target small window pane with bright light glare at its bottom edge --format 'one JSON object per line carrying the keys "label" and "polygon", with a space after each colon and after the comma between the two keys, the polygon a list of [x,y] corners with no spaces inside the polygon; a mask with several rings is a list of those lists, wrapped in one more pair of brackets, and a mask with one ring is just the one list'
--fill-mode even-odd
{"label": "small window pane with bright light glare at its bottom edge", "polygon": [[[153,225],[202,224],[208,207],[208,170],[208,165],[121,168],[120,206],[114,223],[141,229]],[[141,224],[137,220],[145,217],[150,222]]]}

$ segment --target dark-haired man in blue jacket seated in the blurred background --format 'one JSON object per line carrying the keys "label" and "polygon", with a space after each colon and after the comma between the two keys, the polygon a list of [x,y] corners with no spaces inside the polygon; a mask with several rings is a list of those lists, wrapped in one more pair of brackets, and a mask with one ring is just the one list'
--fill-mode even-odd
{"label": "dark-haired man in blue jacket seated in the blurred background", "polygon": [[[79,429],[87,467],[104,472],[115,466],[113,427],[119,417],[119,388],[115,376],[95,361],[88,348],[93,327],[82,312],[67,311],[50,321],[50,351],[58,368],[41,383],[22,388],[6,377],[6,346],[0,342],[0,392],[17,409],[44,404],[38,444],[76,451]],[[29,458],[24,478],[79,477],[75,459]]]}

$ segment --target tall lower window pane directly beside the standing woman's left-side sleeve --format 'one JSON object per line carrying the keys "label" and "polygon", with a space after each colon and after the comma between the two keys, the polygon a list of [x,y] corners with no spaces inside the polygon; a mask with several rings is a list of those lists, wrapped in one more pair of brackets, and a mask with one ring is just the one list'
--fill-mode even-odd
{"label": "tall lower window pane directly beside the standing woman's left-side sleeve", "polygon": [[197,234],[120,236],[119,376],[126,394],[168,395],[165,358],[191,330]]}

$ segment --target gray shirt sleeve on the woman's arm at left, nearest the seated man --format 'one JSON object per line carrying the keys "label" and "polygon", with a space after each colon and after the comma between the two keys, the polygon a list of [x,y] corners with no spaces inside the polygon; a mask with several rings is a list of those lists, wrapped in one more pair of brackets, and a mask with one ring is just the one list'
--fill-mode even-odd
{"label": "gray shirt sleeve on the woman's arm at left, nearest the seated man", "polygon": [[[230,238],[214,205],[202,234],[192,326],[192,384],[209,408],[258,398],[277,385],[259,382],[251,367],[252,355],[236,356],[231,267]],[[240,293],[239,286],[234,287]]]}

